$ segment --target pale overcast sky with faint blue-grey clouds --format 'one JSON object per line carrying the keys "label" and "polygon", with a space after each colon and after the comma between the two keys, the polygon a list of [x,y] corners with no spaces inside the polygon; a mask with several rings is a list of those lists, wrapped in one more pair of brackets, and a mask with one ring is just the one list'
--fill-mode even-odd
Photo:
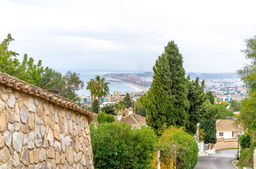
{"label": "pale overcast sky with faint blue-grey clouds", "polygon": [[186,72],[224,73],[246,62],[256,1],[0,0],[0,40],[58,71],[152,71],[174,40]]}

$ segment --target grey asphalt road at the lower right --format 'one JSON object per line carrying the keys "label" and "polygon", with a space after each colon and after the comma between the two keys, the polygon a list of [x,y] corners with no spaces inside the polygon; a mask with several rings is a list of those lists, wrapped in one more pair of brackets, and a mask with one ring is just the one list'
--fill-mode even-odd
{"label": "grey asphalt road at the lower right", "polygon": [[234,169],[231,161],[235,159],[237,155],[237,149],[220,150],[214,155],[198,157],[198,163],[195,169]]}

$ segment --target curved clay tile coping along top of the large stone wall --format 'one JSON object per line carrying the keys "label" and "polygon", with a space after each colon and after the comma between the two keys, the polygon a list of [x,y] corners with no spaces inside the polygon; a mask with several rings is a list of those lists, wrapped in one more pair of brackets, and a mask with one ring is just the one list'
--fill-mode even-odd
{"label": "curved clay tile coping along top of the large stone wall", "polygon": [[88,116],[88,123],[92,121],[92,112],[81,107],[77,103],[62,97],[60,95],[48,92],[39,87],[36,87],[26,81],[20,80],[16,77],[10,76],[0,71],[0,83],[13,89],[28,93],[37,97],[41,97],[45,100],[51,101],[57,105],[61,105],[64,108],[71,109],[76,112],[86,114]]}

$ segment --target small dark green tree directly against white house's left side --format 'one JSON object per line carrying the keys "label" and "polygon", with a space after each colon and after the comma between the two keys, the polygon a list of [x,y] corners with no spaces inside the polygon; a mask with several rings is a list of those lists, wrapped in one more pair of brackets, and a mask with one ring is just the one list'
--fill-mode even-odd
{"label": "small dark green tree directly against white house's left side", "polygon": [[213,143],[215,144],[217,141],[216,138],[216,120],[205,120],[199,125],[200,130],[204,130],[204,143]]}

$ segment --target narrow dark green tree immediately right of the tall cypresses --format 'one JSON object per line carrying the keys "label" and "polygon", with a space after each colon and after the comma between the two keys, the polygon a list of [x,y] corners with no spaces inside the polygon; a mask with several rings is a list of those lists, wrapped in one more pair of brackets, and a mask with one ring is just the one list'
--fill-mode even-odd
{"label": "narrow dark green tree immediately right of the tall cypresses", "polygon": [[196,77],[195,80],[190,81],[190,77],[187,77],[187,88],[188,88],[188,100],[190,103],[190,107],[188,110],[189,118],[186,124],[186,132],[191,135],[194,135],[197,130],[196,124],[202,118],[202,108],[205,101],[205,94],[204,94],[204,80],[202,81],[201,85],[199,83],[199,78]]}

